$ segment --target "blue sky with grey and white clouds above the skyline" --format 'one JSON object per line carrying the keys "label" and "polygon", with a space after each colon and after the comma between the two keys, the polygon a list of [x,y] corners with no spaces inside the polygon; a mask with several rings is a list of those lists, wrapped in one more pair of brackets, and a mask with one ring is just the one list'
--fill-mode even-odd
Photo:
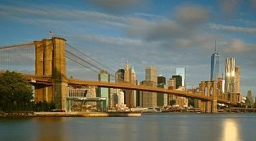
{"label": "blue sky with grey and white clouds above the skyline", "polygon": [[0,46],[49,30],[116,71],[128,60],[138,81],[145,66],[167,79],[184,67],[188,87],[209,80],[216,39],[220,72],[236,58],[242,94],[256,96],[256,0],[0,0]]}

